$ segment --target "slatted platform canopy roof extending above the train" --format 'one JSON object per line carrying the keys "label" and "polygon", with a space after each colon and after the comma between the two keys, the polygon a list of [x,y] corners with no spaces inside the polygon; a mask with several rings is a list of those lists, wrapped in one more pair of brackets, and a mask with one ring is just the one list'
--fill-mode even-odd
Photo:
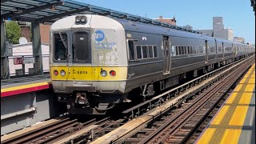
{"label": "slatted platform canopy roof extending above the train", "polygon": [[143,18],[137,15],[126,14],[73,0],[1,0],[2,20],[53,23],[60,18],[74,14],[98,14],[113,18],[126,18],[130,21],[144,22],[198,33],[194,30],[188,30],[166,22],[159,22],[150,18]]}

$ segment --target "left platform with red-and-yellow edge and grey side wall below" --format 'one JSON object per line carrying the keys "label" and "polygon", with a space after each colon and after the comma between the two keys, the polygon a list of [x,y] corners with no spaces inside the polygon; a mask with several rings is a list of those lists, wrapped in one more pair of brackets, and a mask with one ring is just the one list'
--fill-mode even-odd
{"label": "left platform with red-and-yellow edge and grey side wall below", "polygon": [[49,74],[1,80],[1,135],[65,113]]}

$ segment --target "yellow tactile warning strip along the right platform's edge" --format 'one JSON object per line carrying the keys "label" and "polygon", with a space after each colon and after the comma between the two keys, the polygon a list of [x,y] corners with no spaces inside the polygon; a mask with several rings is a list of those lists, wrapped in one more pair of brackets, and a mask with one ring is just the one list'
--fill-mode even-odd
{"label": "yellow tactile warning strip along the right platform's edge", "polygon": [[255,87],[255,63],[196,143],[238,143]]}

